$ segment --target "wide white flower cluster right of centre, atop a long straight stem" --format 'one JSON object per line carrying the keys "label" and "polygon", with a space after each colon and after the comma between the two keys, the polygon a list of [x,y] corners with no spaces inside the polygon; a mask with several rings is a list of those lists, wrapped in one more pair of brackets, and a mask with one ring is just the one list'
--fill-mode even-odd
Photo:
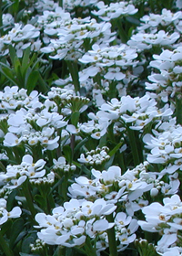
{"label": "wide white flower cluster right of centre, atop a long straight stem", "polygon": [[152,99],[149,94],[143,97],[132,98],[122,96],[121,100],[112,99],[101,105],[99,116],[108,120],[121,123],[128,123],[130,129],[143,131],[149,123],[158,123],[161,119],[172,115],[171,108],[166,104],[164,108],[157,108],[157,101]]}

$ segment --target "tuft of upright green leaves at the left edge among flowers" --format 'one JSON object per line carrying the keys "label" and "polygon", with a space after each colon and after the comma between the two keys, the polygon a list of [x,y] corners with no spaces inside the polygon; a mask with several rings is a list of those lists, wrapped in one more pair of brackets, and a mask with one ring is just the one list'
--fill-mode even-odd
{"label": "tuft of upright green leaves at the left edge among flowers", "polygon": [[[44,80],[46,75],[45,67],[41,65],[41,57],[36,53],[31,56],[30,47],[25,49],[22,58],[18,58],[15,48],[9,46],[10,59],[1,59],[0,72],[1,80],[5,85],[16,85],[18,88],[25,88],[29,94],[33,90],[45,92],[49,86]],[[3,76],[4,75],[4,76]]]}

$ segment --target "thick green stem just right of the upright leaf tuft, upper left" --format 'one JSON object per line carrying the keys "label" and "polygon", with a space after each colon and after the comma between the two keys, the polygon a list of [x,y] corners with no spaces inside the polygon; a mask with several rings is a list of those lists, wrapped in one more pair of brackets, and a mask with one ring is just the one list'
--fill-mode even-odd
{"label": "thick green stem just right of the upright leaf tuft, upper left", "polygon": [[74,87],[76,92],[80,91],[80,82],[79,82],[79,76],[78,76],[78,67],[77,67],[77,62],[76,61],[66,61],[67,67],[69,69],[69,72],[71,74]]}

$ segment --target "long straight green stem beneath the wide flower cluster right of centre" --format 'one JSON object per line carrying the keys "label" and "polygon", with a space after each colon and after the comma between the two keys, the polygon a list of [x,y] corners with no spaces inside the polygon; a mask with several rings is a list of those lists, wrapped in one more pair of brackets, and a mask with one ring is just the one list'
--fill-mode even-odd
{"label": "long straight green stem beneath the wide flower cluster right of centre", "polygon": [[131,146],[131,152],[133,155],[134,165],[139,165],[141,163],[139,154],[138,154],[138,145],[136,143],[135,131],[129,128],[129,124],[126,124],[126,131],[129,138],[129,144]]}

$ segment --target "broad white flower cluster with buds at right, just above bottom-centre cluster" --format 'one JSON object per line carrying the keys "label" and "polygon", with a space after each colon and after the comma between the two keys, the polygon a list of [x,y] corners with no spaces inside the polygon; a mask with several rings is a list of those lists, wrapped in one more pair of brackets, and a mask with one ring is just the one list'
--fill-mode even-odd
{"label": "broad white flower cluster with buds at right, just above bottom-centre cluster", "polygon": [[134,212],[147,205],[147,200],[142,197],[147,191],[150,191],[152,197],[156,197],[160,192],[163,194],[175,194],[179,187],[177,176],[171,176],[169,183],[161,180],[159,175],[147,172],[148,163],[136,166],[133,170],[127,170],[121,175],[121,169],[118,166],[110,166],[102,172],[92,169],[93,179],[86,176],[76,178],[68,188],[69,196],[84,198],[104,197],[109,202],[122,202],[126,212],[133,216]]}

